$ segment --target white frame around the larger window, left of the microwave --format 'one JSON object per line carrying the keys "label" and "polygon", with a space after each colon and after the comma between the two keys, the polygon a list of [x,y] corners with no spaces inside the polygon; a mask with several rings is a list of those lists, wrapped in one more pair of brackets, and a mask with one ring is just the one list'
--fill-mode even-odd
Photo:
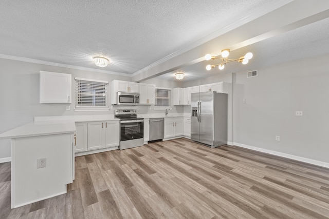
{"label": "white frame around the larger window, left of the microwave", "polygon": [[[86,83],[101,83],[104,85],[105,89],[105,105],[104,106],[82,106],[78,105],[78,97],[79,97],[79,83],[80,81],[84,81]],[[108,81],[101,81],[97,79],[88,79],[88,78],[81,78],[75,77],[75,111],[108,111],[109,110],[109,92],[108,92]],[[81,94],[80,94],[81,95]],[[93,95],[93,94],[91,94]],[[95,95],[95,94],[94,94]],[[94,96],[95,97],[95,96]]]}

